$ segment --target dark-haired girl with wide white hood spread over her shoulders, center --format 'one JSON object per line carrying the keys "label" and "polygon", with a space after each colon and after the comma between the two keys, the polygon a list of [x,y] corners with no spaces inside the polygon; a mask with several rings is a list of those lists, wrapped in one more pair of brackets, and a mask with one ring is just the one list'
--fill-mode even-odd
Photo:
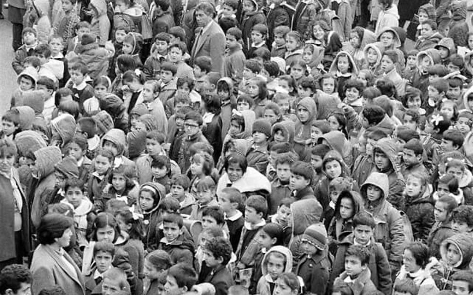
{"label": "dark-haired girl with wide white hood spread over her shoulders, center", "polygon": [[271,193],[270,181],[256,169],[248,167],[245,156],[230,154],[223,164],[225,173],[217,184],[217,196],[225,187],[235,187],[246,196],[261,195],[268,197]]}

